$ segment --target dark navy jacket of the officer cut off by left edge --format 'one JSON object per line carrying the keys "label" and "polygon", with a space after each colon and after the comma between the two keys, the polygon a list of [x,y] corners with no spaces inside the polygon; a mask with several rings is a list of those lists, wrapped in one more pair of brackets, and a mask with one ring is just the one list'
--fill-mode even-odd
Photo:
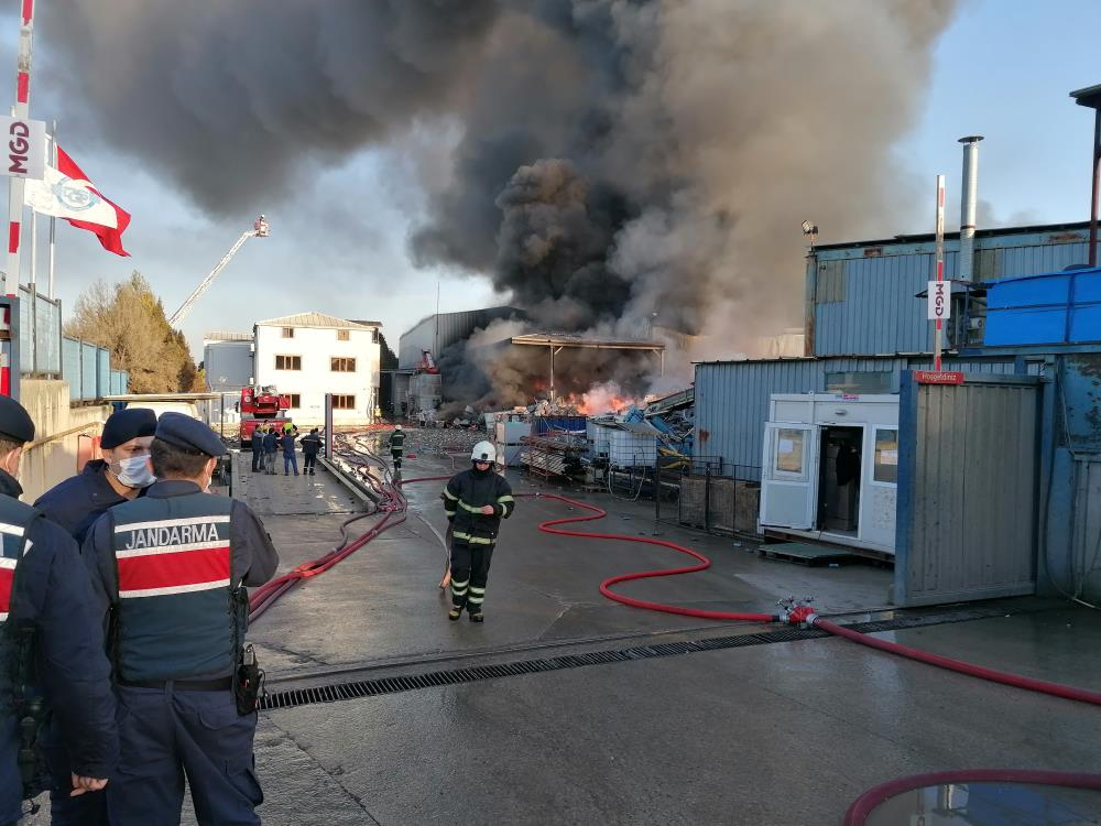
{"label": "dark navy jacket of the officer cut off by left edge", "polygon": [[[0,615],[7,612],[0,622],[3,639],[19,626],[34,628],[36,676],[29,691],[45,698],[70,771],[107,778],[118,759],[118,732],[111,667],[87,570],[73,537],[19,502],[21,492],[19,482],[0,470],[0,521],[25,525],[26,540],[21,548],[4,545],[8,558],[12,550],[22,553],[14,576],[0,577]],[[9,653],[9,643],[0,643],[0,822],[18,819],[22,796],[19,782],[13,782],[20,738],[12,714]]]}

